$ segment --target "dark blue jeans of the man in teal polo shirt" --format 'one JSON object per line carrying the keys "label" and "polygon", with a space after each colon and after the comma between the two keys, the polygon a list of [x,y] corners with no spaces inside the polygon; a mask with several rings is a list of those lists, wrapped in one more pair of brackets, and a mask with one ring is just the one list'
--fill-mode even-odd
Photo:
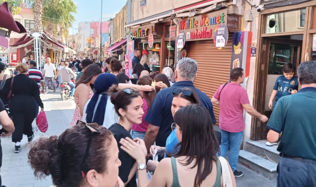
{"label": "dark blue jeans of the man in teal polo shirt", "polygon": [[316,160],[281,157],[276,171],[277,187],[316,186]]}

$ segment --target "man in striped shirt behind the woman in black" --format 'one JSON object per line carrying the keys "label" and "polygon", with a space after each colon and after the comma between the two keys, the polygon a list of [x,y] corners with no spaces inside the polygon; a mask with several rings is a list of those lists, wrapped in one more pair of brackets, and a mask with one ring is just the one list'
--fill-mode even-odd
{"label": "man in striped shirt behind the woman in black", "polygon": [[[40,89],[40,86],[42,86],[42,90],[41,90],[41,93],[44,93],[44,88],[45,88],[45,80],[43,78],[43,74],[42,72],[36,68],[36,62],[34,60],[30,60],[29,64],[28,64],[28,72],[27,72],[27,76],[29,78],[32,78],[39,86],[39,89]],[[35,104],[36,104],[36,116],[39,112],[39,105],[38,103],[35,101]]]}

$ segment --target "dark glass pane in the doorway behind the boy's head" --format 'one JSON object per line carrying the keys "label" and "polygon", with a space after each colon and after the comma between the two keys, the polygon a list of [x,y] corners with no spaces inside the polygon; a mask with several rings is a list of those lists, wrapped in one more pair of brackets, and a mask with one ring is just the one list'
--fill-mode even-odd
{"label": "dark glass pane in the doorway behind the boy's head", "polygon": [[296,65],[298,46],[270,42],[268,74],[283,75],[284,64]]}

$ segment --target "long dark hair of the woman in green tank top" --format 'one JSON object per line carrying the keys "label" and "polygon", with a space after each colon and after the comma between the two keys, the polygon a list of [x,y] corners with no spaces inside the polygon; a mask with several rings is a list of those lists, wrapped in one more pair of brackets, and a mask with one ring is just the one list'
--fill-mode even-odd
{"label": "long dark hair of the woman in green tank top", "polygon": [[186,162],[179,161],[181,165],[190,165],[196,159],[197,174],[194,187],[200,186],[203,180],[212,172],[213,160],[216,161],[216,153],[219,143],[216,138],[212,118],[204,106],[199,104],[182,107],[174,114],[174,122],[181,128],[182,141],[177,145],[179,151],[174,157],[185,156]]}

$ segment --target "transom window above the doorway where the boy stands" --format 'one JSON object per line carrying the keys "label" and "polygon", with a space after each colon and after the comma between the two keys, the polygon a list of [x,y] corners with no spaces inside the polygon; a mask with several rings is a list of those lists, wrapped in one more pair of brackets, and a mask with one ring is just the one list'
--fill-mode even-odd
{"label": "transom window above the doorway where the boy stands", "polygon": [[303,31],[306,9],[271,14],[267,16],[265,33]]}

